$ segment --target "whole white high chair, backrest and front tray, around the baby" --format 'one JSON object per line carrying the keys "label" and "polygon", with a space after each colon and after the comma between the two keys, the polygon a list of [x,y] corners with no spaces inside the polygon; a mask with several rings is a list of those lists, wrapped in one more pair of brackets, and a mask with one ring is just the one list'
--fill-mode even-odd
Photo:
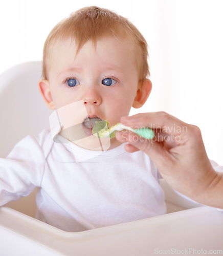
{"label": "whole white high chair, backrest and front tray, around the baby", "polygon": [[[6,157],[20,139],[49,127],[51,111],[37,88],[40,77],[40,61],[0,75],[0,157]],[[208,250],[222,245],[222,212],[188,202],[163,180],[161,185],[167,211],[174,213],[76,233],[33,219],[34,191],[0,208],[0,255],[153,255],[162,249]]]}

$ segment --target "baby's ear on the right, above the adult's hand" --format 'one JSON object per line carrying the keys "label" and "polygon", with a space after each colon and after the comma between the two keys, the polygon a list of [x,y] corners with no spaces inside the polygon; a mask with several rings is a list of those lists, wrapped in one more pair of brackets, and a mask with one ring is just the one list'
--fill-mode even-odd
{"label": "baby's ear on the right, above the adult's hand", "polygon": [[141,108],[141,106],[143,106],[146,100],[148,99],[151,90],[152,90],[152,82],[149,79],[140,80],[136,98],[132,104],[133,108],[135,109]]}

